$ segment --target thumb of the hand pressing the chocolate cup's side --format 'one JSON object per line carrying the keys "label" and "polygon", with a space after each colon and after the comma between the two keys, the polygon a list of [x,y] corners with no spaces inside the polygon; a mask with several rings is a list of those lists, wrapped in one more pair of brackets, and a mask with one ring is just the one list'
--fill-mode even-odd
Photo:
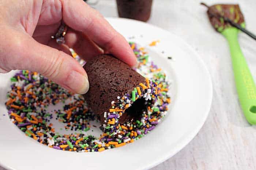
{"label": "thumb of the hand pressing the chocolate cup's side", "polygon": [[[8,41],[11,42],[5,41],[5,50],[3,50],[8,54],[0,56],[0,60],[2,57],[5,58],[4,70],[39,72],[67,90],[78,94],[84,94],[89,90],[85,70],[71,56],[38,43],[27,34],[18,34],[11,39],[9,37]],[[8,44],[12,45],[8,46]]]}

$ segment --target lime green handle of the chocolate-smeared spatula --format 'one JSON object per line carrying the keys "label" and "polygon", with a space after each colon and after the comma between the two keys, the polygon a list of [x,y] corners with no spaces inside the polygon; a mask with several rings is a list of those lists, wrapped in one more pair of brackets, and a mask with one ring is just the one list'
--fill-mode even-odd
{"label": "lime green handle of the chocolate-smeared spatula", "polygon": [[256,124],[256,86],[238,43],[238,29],[226,28],[222,34],[229,42],[237,93],[245,118],[250,124]]}

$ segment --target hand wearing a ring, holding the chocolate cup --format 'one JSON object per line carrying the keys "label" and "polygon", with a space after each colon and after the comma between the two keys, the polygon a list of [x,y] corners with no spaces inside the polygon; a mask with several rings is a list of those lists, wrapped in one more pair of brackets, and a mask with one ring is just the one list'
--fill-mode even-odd
{"label": "hand wearing a ring, holding the chocolate cup", "polygon": [[[58,31],[61,20],[69,29],[65,44],[59,45],[51,36]],[[0,1],[0,73],[35,71],[72,92],[84,94],[89,90],[88,77],[70,56],[69,48],[84,60],[101,54],[103,49],[130,66],[136,65],[124,37],[83,0]]]}

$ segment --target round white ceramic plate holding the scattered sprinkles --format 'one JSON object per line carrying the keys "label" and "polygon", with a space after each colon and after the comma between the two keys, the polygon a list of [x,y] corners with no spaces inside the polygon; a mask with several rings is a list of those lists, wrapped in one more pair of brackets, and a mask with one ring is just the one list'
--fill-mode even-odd
{"label": "round white ceramic plate holding the scattered sprinkles", "polygon": [[[7,114],[5,96],[14,73],[0,74],[1,166],[13,170],[149,169],[172,157],[198,133],[210,110],[212,84],[196,52],[176,35],[153,25],[128,19],[108,20],[127,39],[132,37],[129,41],[146,47],[151,59],[174,80],[176,96],[167,116],[146,137],[124,147],[102,153],[54,150],[26,137],[8,115],[3,116]],[[147,46],[153,40],[160,43]]]}

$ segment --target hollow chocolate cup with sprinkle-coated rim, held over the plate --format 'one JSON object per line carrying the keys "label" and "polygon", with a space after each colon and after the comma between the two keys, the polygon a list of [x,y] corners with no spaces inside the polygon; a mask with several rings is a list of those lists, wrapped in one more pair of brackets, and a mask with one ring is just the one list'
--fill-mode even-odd
{"label": "hollow chocolate cup with sprinkle-coated rim, held over the plate", "polygon": [[118,123],[138,119],[157,101],[158,83],[144,78],[110,54],[94,57],[83,68],[90,83],[83,96],[103,129],[115,131]]}

